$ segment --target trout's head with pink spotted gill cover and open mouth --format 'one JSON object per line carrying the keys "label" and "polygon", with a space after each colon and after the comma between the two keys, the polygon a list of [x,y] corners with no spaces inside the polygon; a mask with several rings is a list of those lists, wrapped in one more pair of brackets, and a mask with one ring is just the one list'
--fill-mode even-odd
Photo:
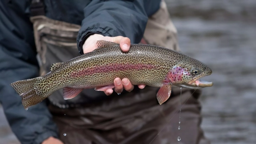
{"label": "trout's head with pink spotted gill cover and open mouth", "polygon": [[203,62],[185,55],[181,56],[177,64],[170,69],[167,77],[172,85],[198,89],[213,85],[212,82],[206,82],[200,79],[211,74],[211,68]]}

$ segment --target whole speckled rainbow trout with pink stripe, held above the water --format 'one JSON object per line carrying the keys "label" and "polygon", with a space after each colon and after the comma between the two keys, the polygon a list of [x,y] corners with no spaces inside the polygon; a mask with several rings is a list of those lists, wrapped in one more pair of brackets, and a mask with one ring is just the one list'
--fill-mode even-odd
{"label": "whole speckled rainbow trout with pink stripe, held above the water", "polygon": [[86,88],[105,91],[114,88],[115,78],[128,78],[133,85],[160,87],[159,104],[171,95],[171,86],[185,88],[211,87],[200,78],[211,75],[204,63],[181,52],[153,45],[131,44],[123,52],[119,44],[97,41],[98,49],[66,62],[52,64],[44,76],[21,80],[10,85],[22,98],[25,109],[54,91],[63,88],[64,99],[72,99]]}

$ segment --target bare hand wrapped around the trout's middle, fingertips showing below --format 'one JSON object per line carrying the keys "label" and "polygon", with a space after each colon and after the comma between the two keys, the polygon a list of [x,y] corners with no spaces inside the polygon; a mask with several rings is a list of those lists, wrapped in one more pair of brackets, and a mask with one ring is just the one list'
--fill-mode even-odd
{"label": "bare hand wrapped around the trout's middle, fingertips showing below", "polygon": [[[127,52],[130,49],[131,46],[131,40],[127,37],[124,36],[116,36],[116,37],[110,37],[110,36],[103,36],[99,34],[94,34],[89,36],[83,45],[83,51],[84,54],[88,52],[92,52],[93,50],[97,49],[97,44],[96,42],[98,40],[106,40],[109,42],[114,42],[114,43],[119,43],[120,48],[122,51]],[[115,78],[114,80],[114,85],[115,85],[115,92],[121,93],[123,89],[125,89],[128,92],[131,92],[134,88],[134,85],[128,80],[127,78],[123,78],[122,80],[120,78]],[[146,85],[138,85],[139,88],[143,89],[145,88]],[[106,95],[111,95],[113,93],[112,89],[108,89],[104,91]]]}

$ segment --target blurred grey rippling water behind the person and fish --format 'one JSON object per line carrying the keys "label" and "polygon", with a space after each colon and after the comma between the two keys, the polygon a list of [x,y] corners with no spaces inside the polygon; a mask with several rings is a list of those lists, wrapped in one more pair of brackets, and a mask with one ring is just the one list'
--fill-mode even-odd
{"label": "blurred grey rippling water behind the person and fish", "polygon": [[[202,128],[212,144],[256,143],[256,0],[165,0],[183,53],[213,71]],[[0,106],[0,144],[19,144]]]}

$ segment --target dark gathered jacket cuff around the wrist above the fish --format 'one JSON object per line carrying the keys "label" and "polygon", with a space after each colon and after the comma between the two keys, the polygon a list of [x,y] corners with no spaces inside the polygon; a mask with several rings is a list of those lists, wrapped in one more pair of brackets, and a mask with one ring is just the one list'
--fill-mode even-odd
{"label": "dark gathered jacket cuff around the wrist above the fish", "polygon": [[77,39],[77,41],[78,41],[77,48],[78,48],[79,54],[81,54],[81,55],[84,54],[84,51],[83,51],[84,42],[90,35],[93,35],[93,34],[100,34],[103,36],[111,36],[108,33],[108,31],[106,31],[103,28],[92,28],[92,29],[85,30],[85,32],[81,35],[81,37]]}

